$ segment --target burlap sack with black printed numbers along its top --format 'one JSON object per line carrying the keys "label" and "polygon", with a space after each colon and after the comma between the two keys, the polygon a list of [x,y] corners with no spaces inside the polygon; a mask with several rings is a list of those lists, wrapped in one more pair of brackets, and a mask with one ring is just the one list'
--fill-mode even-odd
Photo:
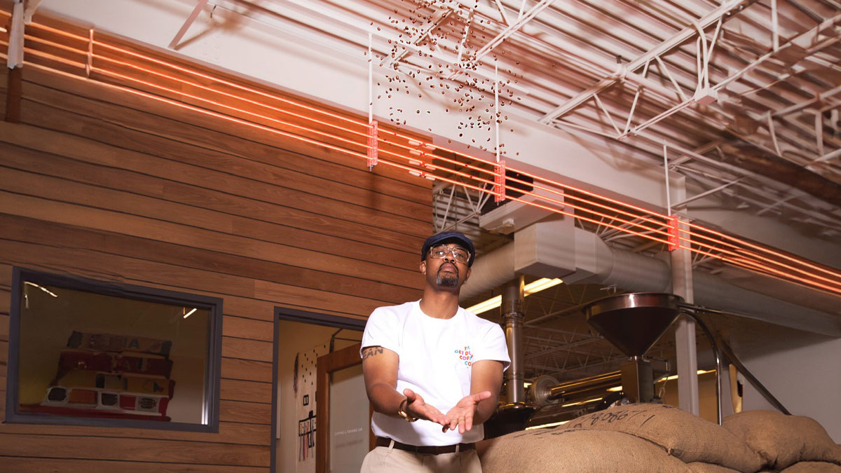
{"label": "burlap sack with black printed numbers along its top", "polygon": [[578,417],[559,428],[612,430],[658,444],[685,463],[700,461],[756,473],[763,460],[721,426],[664,404],[628,404]]}

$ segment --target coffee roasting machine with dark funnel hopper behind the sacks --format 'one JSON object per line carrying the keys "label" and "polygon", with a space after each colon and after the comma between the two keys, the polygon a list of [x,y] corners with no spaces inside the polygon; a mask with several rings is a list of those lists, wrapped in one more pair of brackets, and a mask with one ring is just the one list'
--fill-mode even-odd
{"label": "coffee roasting machine with dark funnel hopper behind the sacks", "polygon": [[[628,357],[617,371],[580,380],[558,382],[540,376],[529,386],[526,402],[503,405],[490,423],[492,433],[507,433],[522,428],[563,423],[615,403],[659,402],[655,383],[672,374],[668,364],[644,358],[666,329],[684,315],[696,322],[709,339],[716,363],[718,423],[722,418],[722,359],[736,366],[748,382],[780,412],[785,407],[756,380],[739,361],[727,343],[714,337],[698,312],[718,312],[687,304],[678,295],[668,293],[631,293],[611,295],[592,302],[584,309],[587,322]],[[719,312],[723,313],[723,312]],[[620,391],[607,391],[621,385]]]}

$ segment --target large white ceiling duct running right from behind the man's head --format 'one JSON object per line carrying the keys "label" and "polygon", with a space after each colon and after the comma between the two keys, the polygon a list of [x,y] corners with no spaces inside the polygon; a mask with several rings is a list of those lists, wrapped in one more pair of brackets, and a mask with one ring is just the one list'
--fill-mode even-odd
{"label": "large white ceiling duct running right from behind the man's head", "polygon": [[[514,242],[473,263],[473,275],[461,291],[468,299],[499,288],[516,274],[615,285],[632,292],[671,292],[669,263],[609,247],[600,237],[575,228],[569,218],[539,221],[517,231]],[[695,304],[740,314],[784,327],[841,337],[841,316],[803,306],[815,291],[787,284],[775,296],[746,290],[712,274],[692,274]]]}

